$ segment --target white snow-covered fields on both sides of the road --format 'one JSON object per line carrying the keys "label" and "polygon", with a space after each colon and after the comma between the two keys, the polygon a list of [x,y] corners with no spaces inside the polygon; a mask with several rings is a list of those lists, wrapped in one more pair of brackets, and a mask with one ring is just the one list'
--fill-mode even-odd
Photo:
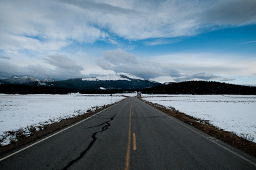
{"label": "white snow-covered fields on both sides of the road", "polygon": [[[112,103],[123,94],[112,96]],[[136,93],[125,93],[134,97]],[[237,135],[256,136],[256,96],[244,95],[147,95],[149,102],[172,106],[180,112],[209,120]],[[77,116],[94,106],[111,104],[109,95],[4,95],[0,94],[0,139],[6,131],[45,125]],[[256,139],[254,141],[256,143]],[[10,138],[1,144],[10,143]]]}

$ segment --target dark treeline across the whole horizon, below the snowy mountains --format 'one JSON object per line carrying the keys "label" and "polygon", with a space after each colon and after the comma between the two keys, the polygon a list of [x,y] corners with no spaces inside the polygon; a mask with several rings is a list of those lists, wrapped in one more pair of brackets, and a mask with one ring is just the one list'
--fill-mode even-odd
{"label": "dark treeline across the whole horizon, below the snowy mountains", "polygon": [[240,86],[211,81],[187,81],[153,88],[136,89],[84,89],[54,88],[51,86],[24,86],[19,84],[0,84],[0,93],[5,94],[115,94],[141,91],[148,94],[191,94],[191,95],[256,95],[256,87]]}

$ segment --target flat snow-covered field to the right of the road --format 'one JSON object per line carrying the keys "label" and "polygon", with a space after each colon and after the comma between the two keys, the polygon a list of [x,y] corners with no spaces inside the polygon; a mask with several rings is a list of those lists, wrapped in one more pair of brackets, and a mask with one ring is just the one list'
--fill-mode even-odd
{"label": "flat snow-covered field to the right of the road", "polygon": [[[190,116],[209,120],[237,135],[256,136],[255,95],[141,95],[143,100],[171,106]],[[251,138],[252,139],[252,138]],[[256,143],[256,139],[253,140]]]}

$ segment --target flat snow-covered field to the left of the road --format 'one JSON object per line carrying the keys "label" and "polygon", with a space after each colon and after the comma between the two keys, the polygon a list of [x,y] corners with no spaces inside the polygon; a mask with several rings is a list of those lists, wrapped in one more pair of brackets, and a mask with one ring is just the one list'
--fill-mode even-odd
{"label": "flat snow-covered field to the left of the road", "polygon": [[[6,131],[45,125],[83,114],[94,106],[118,102],[123,94],[109,95],[4,95],[0,94],[0,136]],[[125,93],[135,96],[135,93]],[[111,101],[112,99],[112,101]],[[1,138],[1,137],[0,137]],[[10,137],[9,137],[10,139]],[[5,140],[1,144],[8,144]]]}

